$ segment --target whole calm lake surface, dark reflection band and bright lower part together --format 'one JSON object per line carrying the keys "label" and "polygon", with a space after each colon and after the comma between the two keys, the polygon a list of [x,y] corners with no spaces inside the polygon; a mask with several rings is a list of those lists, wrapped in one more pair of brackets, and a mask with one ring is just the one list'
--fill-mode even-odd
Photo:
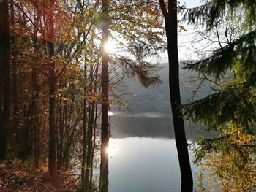
{"label": "whole calm lake surface, dark reflection band and bright lower part together", "polygon": [[[121,122],[130,127],[118,126]],[[170,118],[118,118],[116,125],[108,150],[110,192],[180,191],[178,155]],[[187,126],[187,142],[202,135],[210,137],[200,128]],[[191,152],[189,158],[193,160]],[[191,165],[196,186],[195,173],[199,169],[192,162]]]}

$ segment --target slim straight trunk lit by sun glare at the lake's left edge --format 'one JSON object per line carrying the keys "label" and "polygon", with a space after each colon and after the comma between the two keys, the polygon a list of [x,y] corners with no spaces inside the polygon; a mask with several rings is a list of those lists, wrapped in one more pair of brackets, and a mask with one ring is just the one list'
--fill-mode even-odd
{"label": "slim straight trunk lit by sun glare at the lake's left edge", "polygon": [[105,45],[108,42],[108,0],[102,0],[102,127],[101,127],[101,161],[99,175],[99,191],[108,191],[108,52]]}

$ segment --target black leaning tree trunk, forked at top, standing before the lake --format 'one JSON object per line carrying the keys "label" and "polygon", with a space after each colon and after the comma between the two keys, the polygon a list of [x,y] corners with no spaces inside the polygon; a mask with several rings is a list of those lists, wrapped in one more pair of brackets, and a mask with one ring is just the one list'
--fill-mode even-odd
{"label": "black leaning tree trunk, forked at top, standing before the lake", "polygon": [[181,191],[193,191],[193,177],[189,163],[187,139],[184,120],[182,118],[181,95],[178,72],[178,37],[177,37],[177,1],[168,1],[168,10],[165,2],[159,0],[162,13],[165,16],[165,30],[167,36],[167,51],[169,58],[169,86],[170,103],[173,112],[173,126],[178,151],[178,161],[181,170]]}

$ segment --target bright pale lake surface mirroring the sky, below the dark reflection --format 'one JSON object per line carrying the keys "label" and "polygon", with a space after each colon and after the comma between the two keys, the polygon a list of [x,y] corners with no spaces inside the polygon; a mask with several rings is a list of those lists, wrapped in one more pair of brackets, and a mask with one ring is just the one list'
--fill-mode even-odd
{"label": "bright pale lake surface mirroring the sky, below the dark reflection", "polygon": [[[173,139],[110,139],[118,152],[110,158],[110,191],[180,191],[178,155]],[[192,159],[192,154],[190,154]],[[196,166],[192,165],[193,172]],[[195,178],[195,182],[197,182]]]}

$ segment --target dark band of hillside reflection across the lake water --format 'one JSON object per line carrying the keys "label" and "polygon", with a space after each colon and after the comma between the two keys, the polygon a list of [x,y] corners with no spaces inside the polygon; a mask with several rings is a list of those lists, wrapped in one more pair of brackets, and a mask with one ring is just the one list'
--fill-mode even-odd
{"label": "dark band of hillside reflection across the lake water", "polygon": [[[134,117],[117,117],[111,120],[113,126],[111,135],[114,138],[126,137],[151,137],[174,139],[174,130],[171,128],[172,118],[169,116],[159,118],[134,118]],[[195,140],[200,137],[211,138],[216,136],[214,133],[205,131],[205,128],[195,124],[185,124],[187,139]]]}

